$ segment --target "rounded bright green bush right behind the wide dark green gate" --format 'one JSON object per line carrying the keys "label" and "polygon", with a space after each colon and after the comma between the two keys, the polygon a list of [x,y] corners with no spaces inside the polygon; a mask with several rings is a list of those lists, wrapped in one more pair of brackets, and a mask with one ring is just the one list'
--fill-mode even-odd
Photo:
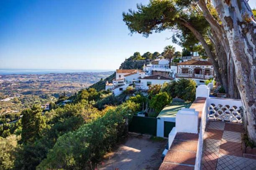
{"label": "rounded bright green bush right behind the wide dark green gate", "polygon": [[[159,112],[164,108],[164,106],[170,104],[170,101],[172,100],[171,97],[167,94],[167,92],[159,92],[149,102],[149,107],[154,109],[156,114],[158,115]],[[157,116],[155,115],[155,117]]]}

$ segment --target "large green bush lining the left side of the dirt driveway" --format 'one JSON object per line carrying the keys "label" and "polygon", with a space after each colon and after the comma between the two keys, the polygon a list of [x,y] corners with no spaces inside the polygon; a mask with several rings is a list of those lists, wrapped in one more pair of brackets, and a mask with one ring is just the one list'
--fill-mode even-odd
{"label": "large green bush lining the left side of the dirt driveway", "polygon": [[126,135],[125,118],[131,119],[137,111],[138,104],[127,101],[102,118],[62,135],[37,168],[88,169]]}

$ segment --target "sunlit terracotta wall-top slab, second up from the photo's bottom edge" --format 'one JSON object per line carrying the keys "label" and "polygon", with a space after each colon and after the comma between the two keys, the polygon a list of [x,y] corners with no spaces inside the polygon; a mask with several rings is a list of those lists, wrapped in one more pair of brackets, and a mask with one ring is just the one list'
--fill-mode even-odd
{"label": "sunlit terracotta wall-top slab, second up from the photo's bottom edge", "polygon": [[169,150],[164,162],[195,165],[196,154],[195,152]]}

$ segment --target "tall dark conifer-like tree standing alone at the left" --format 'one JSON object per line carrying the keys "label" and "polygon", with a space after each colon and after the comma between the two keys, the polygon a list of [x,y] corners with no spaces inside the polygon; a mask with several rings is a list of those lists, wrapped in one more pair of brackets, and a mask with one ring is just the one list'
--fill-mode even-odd
{"label": "tall dark conifer-like tree standing alone at the left", "polygon": [[33,105],[31,109],[23,110],[22,113],[21,140],[23,143],[33,143],[46,127],[46,119],[42,116],[42,109],[37,105]]}

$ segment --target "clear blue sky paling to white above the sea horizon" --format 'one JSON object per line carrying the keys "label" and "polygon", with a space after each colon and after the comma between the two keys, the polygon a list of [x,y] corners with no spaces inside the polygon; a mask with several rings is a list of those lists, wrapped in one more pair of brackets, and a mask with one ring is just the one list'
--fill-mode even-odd
{"label": "clear blue sky paling to white above the sea horizon", "polygon": [[122,13],[137,3],[148,0],[0,0],[0,68],[115,70],[136,51],[181,51],[169,30],[128,35]]}

